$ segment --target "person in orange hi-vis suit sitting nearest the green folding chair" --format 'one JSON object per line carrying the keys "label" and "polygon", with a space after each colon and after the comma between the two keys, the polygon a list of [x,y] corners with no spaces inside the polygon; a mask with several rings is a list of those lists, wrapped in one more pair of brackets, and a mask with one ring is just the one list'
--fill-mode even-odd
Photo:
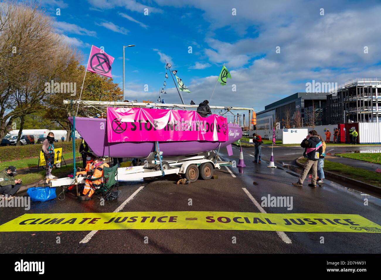
{"label": "person in orange hi-vis suit sitting nearest the green folding chair", "polygon": [[94,169],[87,172],[85,187],[82,192],[83,196],[78,196],[79,200],[90,200],[95,190],[102,186],[104,167],[109,167],[109,165],[101,157],[94,159]]}

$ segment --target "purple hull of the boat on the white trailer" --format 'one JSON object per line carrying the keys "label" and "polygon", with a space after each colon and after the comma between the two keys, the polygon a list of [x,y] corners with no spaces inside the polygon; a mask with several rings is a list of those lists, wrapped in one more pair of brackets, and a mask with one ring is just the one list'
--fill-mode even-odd
{"label": "purple hull of the boat on the white trailer", "polygon": [[[73,118],[69,118],[73,123]],[[118,142],[107,141],[107,121],[102,118],[75,118],[75,129],[85,139],[97,156],[146,158],[155,151],[155,142]],[[236,124],[228,124],[229,139],[226,142],[208,141],[171,141],[159,142],[163,157],[187,156],[205,153],[231,143],[242,137],[242,129]]]}

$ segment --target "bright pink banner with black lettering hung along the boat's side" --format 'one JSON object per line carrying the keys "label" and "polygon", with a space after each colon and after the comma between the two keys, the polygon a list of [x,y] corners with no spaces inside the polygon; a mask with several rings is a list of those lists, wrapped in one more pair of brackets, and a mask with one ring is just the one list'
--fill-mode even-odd
{"label": "bright pink banner with black lettering hung along the boat's side", "polygon": [[107,108],[107,136],[112,142],[228,140],[227,119],[203,118],[196,111]]}

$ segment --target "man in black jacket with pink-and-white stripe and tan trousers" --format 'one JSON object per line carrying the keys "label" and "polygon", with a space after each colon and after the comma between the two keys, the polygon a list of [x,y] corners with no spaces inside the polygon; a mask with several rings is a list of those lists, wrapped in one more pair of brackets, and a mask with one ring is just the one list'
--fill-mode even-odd
{"label": "man in black jacket with pink-and-white stripe and tan trousers", "polygon": [[308,133],[309,135],[307,135],[307,137],[300,144],[300,146],[304,148],[303,156],[306,157],[307,161],[306,164],[304,164],[304,169],[299,177],[299,181],[292,184],[297,187],[302,187],[309,170],[312,168],[312,182],[311,184],[308,184],[308,186],[316,188],[317,161],[320,154],[323,153],[323,144],[317,136],[316,130],[310,130]]}

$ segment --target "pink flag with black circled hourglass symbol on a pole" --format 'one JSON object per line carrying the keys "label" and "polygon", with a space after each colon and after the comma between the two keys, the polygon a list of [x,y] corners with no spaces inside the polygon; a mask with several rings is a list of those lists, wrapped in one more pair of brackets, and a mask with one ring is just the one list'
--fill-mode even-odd
{"label": "pink flag with black circled hourglass symbol on a pole", "polygon": [[91,46],[90,57],[86,70],[112,78],[112,62],[114,62],[114,57],[109,56],[106,52],[96,46]]}

